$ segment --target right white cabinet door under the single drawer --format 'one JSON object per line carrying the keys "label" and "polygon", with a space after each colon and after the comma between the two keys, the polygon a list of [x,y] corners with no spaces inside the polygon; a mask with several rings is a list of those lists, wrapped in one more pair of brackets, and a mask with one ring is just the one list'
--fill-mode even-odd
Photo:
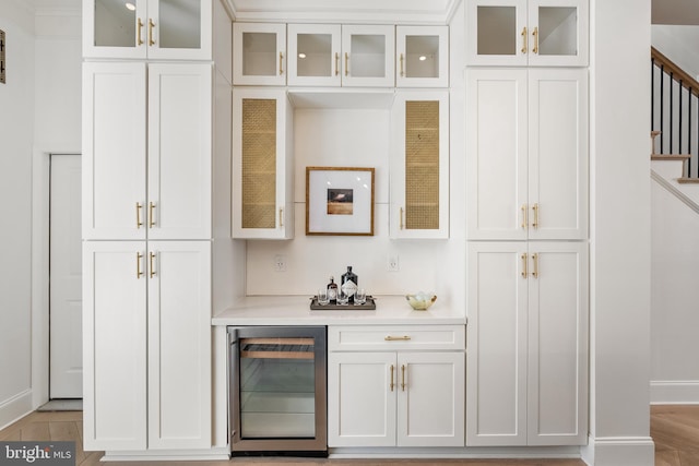
{"label": "right white cabinet door under the single drawer", "polygon": [[398,354],[398,446],[464,445],[464,354]]}

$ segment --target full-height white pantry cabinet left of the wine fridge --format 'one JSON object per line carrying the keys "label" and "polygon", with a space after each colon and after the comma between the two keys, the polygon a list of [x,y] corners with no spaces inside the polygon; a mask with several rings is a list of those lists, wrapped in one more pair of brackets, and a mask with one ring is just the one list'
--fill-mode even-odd
{"label": "full-height white pantry cabinet left of the wine fridge", "polygon": [[211,450],[232,23],[218,0],[134,5],[83,2],[85,450]]}

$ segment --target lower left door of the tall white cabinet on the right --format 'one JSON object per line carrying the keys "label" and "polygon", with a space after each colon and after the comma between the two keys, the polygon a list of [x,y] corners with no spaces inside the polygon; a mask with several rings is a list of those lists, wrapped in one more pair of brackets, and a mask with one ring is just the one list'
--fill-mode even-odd
{"label": "lower left door of the tall white cabinet on the right", "polygon": [[526,445],[526,248],[469,243],[466,446]]}

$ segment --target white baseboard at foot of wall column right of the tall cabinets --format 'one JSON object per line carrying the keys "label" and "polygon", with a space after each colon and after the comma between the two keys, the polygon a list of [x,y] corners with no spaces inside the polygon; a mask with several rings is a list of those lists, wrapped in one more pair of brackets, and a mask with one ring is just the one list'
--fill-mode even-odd
{"label": "white baseboard at foot of wall column right of the tall cabinets", "polygon": [[650,437],[590,438],[580,449],[590,466],[653,466],[655,444]]}

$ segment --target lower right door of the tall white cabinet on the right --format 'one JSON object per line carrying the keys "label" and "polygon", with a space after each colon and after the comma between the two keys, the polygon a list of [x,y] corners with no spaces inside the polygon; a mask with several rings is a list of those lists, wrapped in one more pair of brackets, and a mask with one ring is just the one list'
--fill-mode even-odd
{"label": "lower right door of the tall white cabinet on the right", "polygon": [[588,435],[588,244],[529,243],[528,444]]}

